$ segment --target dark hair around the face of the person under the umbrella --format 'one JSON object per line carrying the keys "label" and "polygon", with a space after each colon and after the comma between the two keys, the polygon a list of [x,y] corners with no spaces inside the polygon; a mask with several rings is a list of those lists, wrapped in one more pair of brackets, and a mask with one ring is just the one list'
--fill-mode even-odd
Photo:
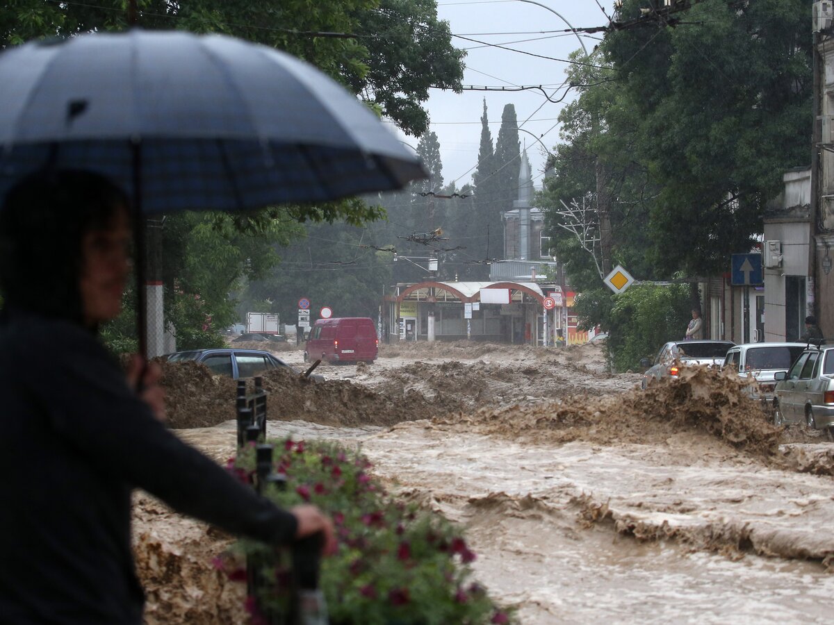
{"label": "dark hair around the face of the person under the umbrella", "polygon": [[84,235],[108,228],[128,198],[107,178],[53,170],[23,178],[0,208],[4,307],[83,323]]}

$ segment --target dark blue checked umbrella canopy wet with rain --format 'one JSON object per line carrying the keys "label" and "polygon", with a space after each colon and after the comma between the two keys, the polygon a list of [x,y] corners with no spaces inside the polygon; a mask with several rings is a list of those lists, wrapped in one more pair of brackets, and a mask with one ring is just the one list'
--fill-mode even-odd
{"label": "dark blue checked umbrella canopy wet with rain", "polygon": [[425,178],[339,84],[232,37],[31,42],[0,54],[0,84],[0,194],[47,165],[102,173],[143,213],[320,202]]}

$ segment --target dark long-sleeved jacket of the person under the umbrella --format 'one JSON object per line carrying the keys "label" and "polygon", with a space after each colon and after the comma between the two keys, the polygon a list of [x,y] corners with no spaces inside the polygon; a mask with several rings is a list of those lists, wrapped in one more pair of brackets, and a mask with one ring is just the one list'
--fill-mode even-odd
{"label": "dark long-sleeved jacket of the person under the umbrella", "polygon": [[294,536],[293,515],[170,433],[77,325],[0,323],[0,402],[0,622],[142,622],[133,488],[228,532]]}

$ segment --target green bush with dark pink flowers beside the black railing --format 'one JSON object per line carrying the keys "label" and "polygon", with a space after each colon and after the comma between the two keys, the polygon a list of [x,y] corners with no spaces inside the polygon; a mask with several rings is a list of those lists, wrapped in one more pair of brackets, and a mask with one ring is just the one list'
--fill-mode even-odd
{"label": "green bush with dark pink flowers beside the black railing", "polygon": [[[390,498],[369,476],[366,458],[334,443],[270,443],[274,471],[286,482],[264,494],[281,507],[309,502],[333,517],[339,552],[322,559],[319,577],[333,625],[513,622],[470,581],[475,553],[460,528]],[[252,483],[254,446],[242,448],[228,468]],[[260,563],[256,574],[266,582],[258,597],[249,597],[249,607],[285,613],[289,554],[246,540],[238,542],[237,551],[249,558],[250,567]],[[239,570],[229,574],[241,577]]]}

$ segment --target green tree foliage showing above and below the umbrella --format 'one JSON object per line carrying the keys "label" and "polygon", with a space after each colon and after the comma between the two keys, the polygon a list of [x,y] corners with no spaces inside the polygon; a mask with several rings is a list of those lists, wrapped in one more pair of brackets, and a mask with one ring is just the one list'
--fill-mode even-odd
{"label": "green tree foliage showing above and below the umbrella", "polygon": [[[435,0],[137,0],[137,6],[138,25],[143,28],[219,32],[301,57],[414,135],[428,127],[423,105],[430,86],[460,91],[465,52],[452,47],[448,23],[437,18]],[[0,8],[0,47],[37,37],[123,30],[128,28],[127,7],[126,0],[9,0]],[[436,183],[440,188],[442,178]],[[329,236],[336,236],[329,224],[344,222],[349,226],[344,237],[361,241],[355,228],[384,218],[384,214],[377,206],[353,199],[274,207],[234,217],[168,216],[163,228],[166,314],[177,328],[180,347],[206,347],[219,330],[239,320],[229,294],[239,292],[241,281],[257,283],[265,278],[282,256],[294,258],[294,250],[279,253],[278,248],[304,234],[299,224],[324,224],[313,229],[322,228]],[[319,248],[316,251],[319,253]],[[317,262],[348,260],[322,246]],[[378,264],[374,263],[371,271],[342,274],[346,282],[339,283],[342,289],[338,293],[345,299],[339,308],[368,314],[368,305],[358,303],[359,298],[367,297],[374,301],[375,309],[376,280],[382,280],[384,274],[377,271]],[[282,271],[272,278],[269,293],[281,302],[278,308],[289,307],[284,303],[295,297],[292,293],[313,294],[289,282],[289,277],[301,281],[300,285],[316,278],[320,289],[332,292],[334,281],[327,277],[333,275],[323,269],[317,273]],[[365,284],[364,279],[372,282]],[[320,299],[328,298],[322,294]],[[281,310],[286,313],[289,308]],[[113,344],[131,342],[129,314],[105,329]]]}

